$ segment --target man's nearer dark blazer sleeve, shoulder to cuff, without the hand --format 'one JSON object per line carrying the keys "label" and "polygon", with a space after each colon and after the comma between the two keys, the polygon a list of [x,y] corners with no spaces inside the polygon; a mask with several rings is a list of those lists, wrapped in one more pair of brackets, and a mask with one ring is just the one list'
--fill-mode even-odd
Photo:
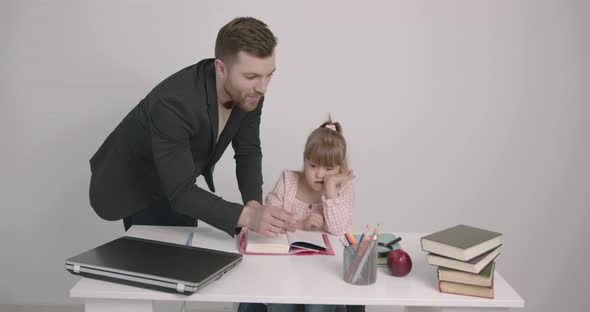
{"label": "man's nearer dark blazer sleeve, shoulder to cuff, without the hand", "polygon": [[[195,185],[200,174],[192,159],[190,138],[198,129],[186,107],[175,99],[157,99],[149,113],[154,163],[170,206],[234,235],[243,205],[223,200]],[[207,148],[207,147],[203,147]]]}

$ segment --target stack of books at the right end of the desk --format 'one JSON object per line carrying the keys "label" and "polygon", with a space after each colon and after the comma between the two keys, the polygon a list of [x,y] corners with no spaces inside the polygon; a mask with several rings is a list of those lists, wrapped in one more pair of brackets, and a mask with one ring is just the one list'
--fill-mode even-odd
{"label": "stack of books at the right end of the desk", "polygon": [[494,298],[495,259],[502,234],[457,225],[420,239],[427,261],[438,266],[439,291]]}

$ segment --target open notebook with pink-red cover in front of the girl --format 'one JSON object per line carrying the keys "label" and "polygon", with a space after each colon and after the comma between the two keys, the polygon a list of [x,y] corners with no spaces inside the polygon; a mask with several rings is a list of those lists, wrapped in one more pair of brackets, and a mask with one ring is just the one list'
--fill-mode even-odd
{"label": "open notebook with pink-red cover in front of the girl", "polygon": [[249,255],[334,255],[328,235],[306,231],[270,238],[246,230],[240,234],[240,252]]}

